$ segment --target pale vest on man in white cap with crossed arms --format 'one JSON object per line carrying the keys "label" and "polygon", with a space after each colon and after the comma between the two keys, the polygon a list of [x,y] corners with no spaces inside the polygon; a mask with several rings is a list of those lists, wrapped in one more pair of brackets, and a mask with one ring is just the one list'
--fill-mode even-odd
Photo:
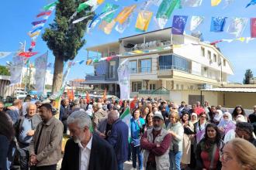
{"label": "pale vest on man in white cap with crossed arms", "polygon": [[[147,130],[147,140],[150,142],[153,142],[153,129]],[[161,129],[161,133],[157,135],[157,137],[154,139],[154,144],[161,144],[162,141],[164,141],[164,137],[168,135],[168,131],[166,131],[164,128]],[[144,148],[144,145],[141,146]],[[150,151],[147,149],[144,150],[144,167],[147,167],[147,158],[150,155]],[[163,155],[155,156],[155,162],[156,162],[156,168],[157,170],[169,170],[170,168],[170,160],[169,160],[169,149],[166,149]]]}

